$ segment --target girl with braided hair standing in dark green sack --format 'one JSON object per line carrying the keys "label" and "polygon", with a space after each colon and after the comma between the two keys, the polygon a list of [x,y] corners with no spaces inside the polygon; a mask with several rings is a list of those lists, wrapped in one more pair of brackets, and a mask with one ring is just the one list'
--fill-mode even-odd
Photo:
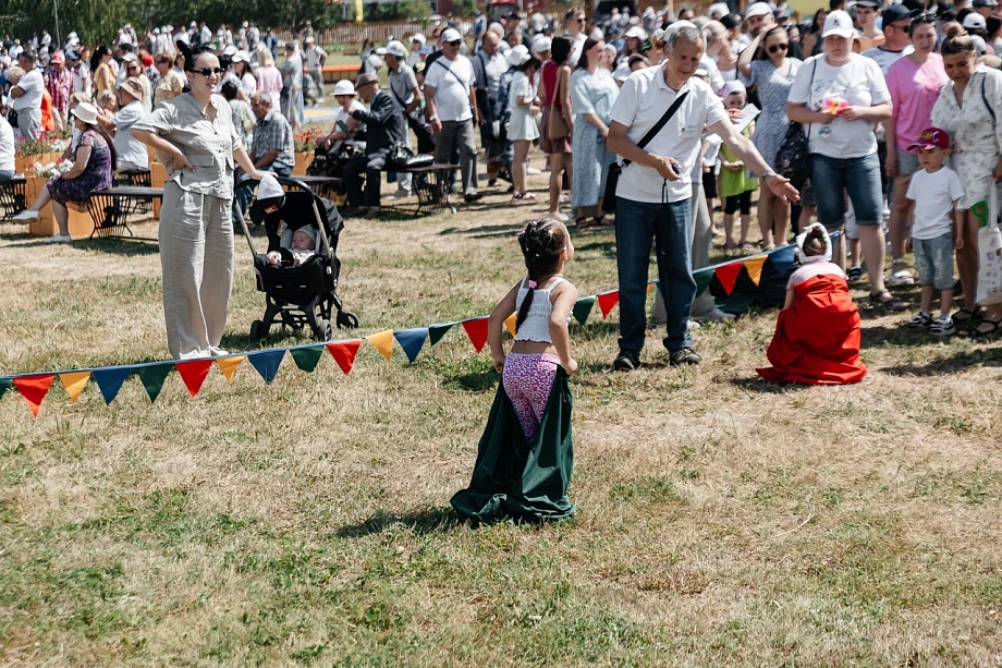
{"label": "girl with braided hair standing in dark green sack", "polygon": [[[501,386],[477,448],[469,486],[452,507],[475,523],[504,518],[539,522],[574,513],[567,485],[574,467],[571,390],[577,372],[567,326],[577,289],[563,278],[574,257],[567,228],[530,222],[518,235],[527,276],[509,290],[488,320],[488,341]],[[506,356],[504,321],[513,313],[515,342]]]}

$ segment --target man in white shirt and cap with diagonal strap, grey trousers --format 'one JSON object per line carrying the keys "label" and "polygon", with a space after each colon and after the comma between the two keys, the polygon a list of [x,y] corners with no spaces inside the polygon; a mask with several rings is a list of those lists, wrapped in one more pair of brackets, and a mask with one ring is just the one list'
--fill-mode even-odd
{"label": "man in white shirt and cap with diagonal strap, grey trousers", "polygon": [[469,59],[460,53],[463,38],[459,31],[442,31],[442,57],[425,70],[425,114],[435,139],[435,161],[449,163],[460,150],[463,193],[466,202],[480,198],[477,192],[477,145],[473,129],[479,124],[476,77]]}

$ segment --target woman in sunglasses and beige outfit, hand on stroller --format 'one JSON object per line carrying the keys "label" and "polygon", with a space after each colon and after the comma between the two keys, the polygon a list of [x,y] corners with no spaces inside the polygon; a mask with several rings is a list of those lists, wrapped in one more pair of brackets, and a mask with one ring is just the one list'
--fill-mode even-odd
{"label": "woman in sunglasses and beige outfit, hand on stroller", "polygon": [[[230,105],[212,90],[224,71],[212,53],[185,57],[191,93],[164,100],[132,134],[167,166],[160,207],[160,265],[167,343],[175,360],[227,354],[219,348],[233,284],[233,161],[254,168]],[[191,63],[191,64],[188,64]]]}

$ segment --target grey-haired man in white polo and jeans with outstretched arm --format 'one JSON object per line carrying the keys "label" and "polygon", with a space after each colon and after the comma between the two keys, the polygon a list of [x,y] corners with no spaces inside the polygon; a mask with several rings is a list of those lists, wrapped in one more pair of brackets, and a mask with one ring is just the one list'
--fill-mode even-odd
{"label": "grey-haired man in white polo and jeans with outstretched arm", "polygon": [[[620,354],[616,371],[640,364],[646,336],[647,270],[657,241],[658,276],[668,307],[663,340],[672,365],[698,364],[688,318],[696,296],[692,271],[693,191],[691,174],[709,126],[745,167],[781,198],[796,190],[766,165],[750,139],[741,135],[710,86],[693,74],[706,42],[692,23],[679,22],[665,36],[664,63],[630,75],[612,107],[608,146],[631,163],[623,168],[615,198],[616,266],[620,283]],[[644,147],[637,143],[681,96],[674,116]]]}

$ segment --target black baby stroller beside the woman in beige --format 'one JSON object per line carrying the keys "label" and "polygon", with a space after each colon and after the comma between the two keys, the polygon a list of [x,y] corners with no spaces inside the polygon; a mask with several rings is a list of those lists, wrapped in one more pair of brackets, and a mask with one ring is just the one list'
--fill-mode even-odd
{"label": "black baby stroller beside the woman in beige", "polygon": [[[265,293],[267,307],[260,320],[250,324],[250,340],[259,341],[268,336],[271,324],[280,318],[283,327],[302,330],[309,326],[318,341],[333,338],[331,312],[337,309],[338,328],[358,327],[358,317],[344,309],[338,296],[338,277],[341,260],[338,259],[338,238],[344,229],[344,220],[338,207],[323,199],[304,183],[279,177],[278,182],[297,190],[276,189],[279,193],[258,192],[258,199],[250,205],[250,219],[265,223],[268,233],[268,253],[282,253],[288,248],[292,234],[300,228],[313,226],[317,234],[314,255],[297,266],[272,266],[266,254],[258,254],[247,229],[247,222],[240,219],[244,236],[254,254],[254,271],[257,289]],[[237,187],[254,187],[254,181],[244,181]],[[273,184],[272,184],[273,185]],[[265,186],[260,189],[265,190]],[[288,252],[282,253],[289,256]],[[283,259],[283,265],[291,264]]]}

